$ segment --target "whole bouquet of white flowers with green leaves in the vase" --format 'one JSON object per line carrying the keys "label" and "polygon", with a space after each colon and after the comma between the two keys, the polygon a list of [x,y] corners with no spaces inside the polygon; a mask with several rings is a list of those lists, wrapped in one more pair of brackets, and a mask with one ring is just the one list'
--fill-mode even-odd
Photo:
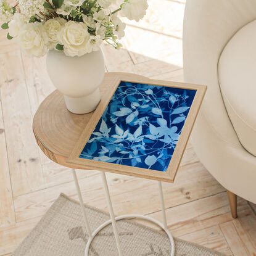
{"label": "whole bouquet of white flowers with green leaves in the vase", "polygon": [[[67,56],[97,51],[102,41],[119,49],[125,23],[118,14],[139,21],[147,0],[19,0],[10,6],[0,0],[0,22],[17,38],[29,56],[44,56],[48,49]],[[114,7],[114,9],[113,9]]]}

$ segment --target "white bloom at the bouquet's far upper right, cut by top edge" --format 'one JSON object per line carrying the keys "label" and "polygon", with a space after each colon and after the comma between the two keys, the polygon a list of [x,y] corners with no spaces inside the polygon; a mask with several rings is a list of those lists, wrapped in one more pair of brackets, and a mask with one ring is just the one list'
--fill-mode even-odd
{"label": "white bloom at the bouquet's far upper right, cut by top edge", "polygon": [[147,7],[149,7],[147,0],[129,0],[123,4],[121,14],[129,20],[138,22],[146,14]]}

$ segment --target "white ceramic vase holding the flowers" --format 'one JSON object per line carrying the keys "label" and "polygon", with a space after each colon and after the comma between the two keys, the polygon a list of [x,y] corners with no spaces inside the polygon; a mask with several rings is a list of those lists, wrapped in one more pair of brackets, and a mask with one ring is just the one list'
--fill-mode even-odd
{"label": "white ceramic vase holding the flowers", "polygon": [[47,54],[46,65],[70,112],[86,114],[96,109],[101,100],[99,85],[105,73],[101,49],[81,57],[68,57],[63,51],[52,50]]}

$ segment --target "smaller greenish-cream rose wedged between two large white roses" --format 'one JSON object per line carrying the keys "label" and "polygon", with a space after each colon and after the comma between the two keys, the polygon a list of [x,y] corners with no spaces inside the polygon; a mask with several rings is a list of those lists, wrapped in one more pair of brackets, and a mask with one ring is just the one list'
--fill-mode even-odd
{"label": "smaller greenish-cream rose wedged between two large white roses", "polygon": [[54,49],[56,44],[59,42],[57,35],[60,32],[61,28],[65,25],[67,20],[62,18],[55,18],[47,20],[44,23],[44,28],[49,38],[49,49]]}

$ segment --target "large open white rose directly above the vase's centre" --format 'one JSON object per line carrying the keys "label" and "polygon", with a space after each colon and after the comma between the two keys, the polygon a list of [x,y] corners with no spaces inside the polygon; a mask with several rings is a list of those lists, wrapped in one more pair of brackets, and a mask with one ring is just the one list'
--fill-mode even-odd
{"label": "large open white rose directly above the vase's centre", "polygon": [[70,20],[62,27],[58,37],[60,44],[64,45],[64,53],[67,56],[73,57],[86,54],[89,33],[85,23]]}

